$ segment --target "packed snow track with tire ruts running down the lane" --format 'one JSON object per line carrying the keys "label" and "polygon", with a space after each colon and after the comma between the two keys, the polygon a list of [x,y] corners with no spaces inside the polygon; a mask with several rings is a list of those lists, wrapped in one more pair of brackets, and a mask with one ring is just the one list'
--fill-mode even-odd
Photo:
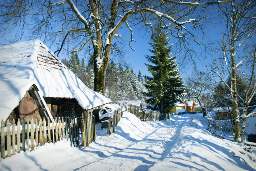
{"label": "packed snow track with tire ruts running down the lane", "polygon": [[180,118],[181,120],[174,123],[159,122],[155,130],[142,140],[135,141],[125,149],[120,149],[108,157],[80,166],[75,170],[127,170],[128,168],[129,170],[148,170],[158,160],[163,160],[177,142],[181,127],[188,119]]}

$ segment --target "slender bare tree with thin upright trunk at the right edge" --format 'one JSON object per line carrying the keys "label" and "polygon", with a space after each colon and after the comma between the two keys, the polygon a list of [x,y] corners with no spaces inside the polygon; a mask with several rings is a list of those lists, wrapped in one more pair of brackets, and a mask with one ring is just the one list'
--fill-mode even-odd
{"label": "slender bare tree with thin upright trunk at the right edge", "polygon": [[[214,62],[212,72],[218,75],[223,85],[230,92],[230,100],[234,110],[234,140],[241,142],[244,136],[246,118],[252,116],[247,114],[249,104],[255,95],[255,61],[256,44],[253,38],[256,36],[256,1],[235,0],[222,5],[221,18],[226,26],[223,39],[219,41],[221,58]],[[220,67],[223,63],[223,68]],[[246,74],[247,87],[244,92],[239,93],[237,89],[237,74]],[[227,74],[226,74],[227,73]],[[226,75],[225,75],[226,74]],[[225,76],[231,78],[229,85]],[[238,110],[238,101],[242,100],[242,113]]]}

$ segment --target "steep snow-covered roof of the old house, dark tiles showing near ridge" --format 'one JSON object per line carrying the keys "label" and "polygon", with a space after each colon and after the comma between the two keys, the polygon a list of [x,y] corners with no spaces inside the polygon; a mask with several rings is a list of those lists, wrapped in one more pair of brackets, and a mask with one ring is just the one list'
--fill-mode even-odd
{"label": "steep snow-covered roof of the old house, dark tiles showing near ridge", "polygon": [[[18,101],[33,83],[44,97],[75,98],[84,109],[91,109],[111,102],[108,98],[89,89],[70,71],[58,57],[40,40],[11,44],[0,47],[0,94],[6,90],[8,98]],[[7,81],[8,80],[8,81]],[[24,88],[22,88],[24,86]],[[26,87],[26,88],[25,88]],[[0,102],[7,97],[0,96]],[[16,104],[5,103],[5,112],[11,113]],[[2,113],[2,104],[1,114]],[[7,110],[7,108],[9,110]]]}

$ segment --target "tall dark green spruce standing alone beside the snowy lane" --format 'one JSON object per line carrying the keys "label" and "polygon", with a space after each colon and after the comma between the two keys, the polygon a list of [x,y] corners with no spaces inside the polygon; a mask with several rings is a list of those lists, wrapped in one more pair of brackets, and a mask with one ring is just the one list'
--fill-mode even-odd
{"label": "tall dark green spruce standing alone beside the snowy lane", "polygon": [[151,43],[154,56],[146,55],[153,65],[145,64],[153,77],[146,77],[145,93],[149,108],[168,113],[178,98],[184,93],[184,85],[177,69],[176,57],[170,57],[172,46],[168,46],[169,39],[166,32],[159,25],[151,35]]}

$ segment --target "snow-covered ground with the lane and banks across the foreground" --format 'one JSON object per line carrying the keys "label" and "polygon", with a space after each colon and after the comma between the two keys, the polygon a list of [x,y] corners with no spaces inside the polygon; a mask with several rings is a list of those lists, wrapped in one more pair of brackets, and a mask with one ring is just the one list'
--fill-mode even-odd
{"label": "snow-covered ground with the lane and banks across the foreground", "polygon": [[255,153],[206,126],[202,114],[142,122],[125,112],[110,136],[97,124],[97,141],[85,149],[50,143],[0,159],[0,170],[256,170]]}

